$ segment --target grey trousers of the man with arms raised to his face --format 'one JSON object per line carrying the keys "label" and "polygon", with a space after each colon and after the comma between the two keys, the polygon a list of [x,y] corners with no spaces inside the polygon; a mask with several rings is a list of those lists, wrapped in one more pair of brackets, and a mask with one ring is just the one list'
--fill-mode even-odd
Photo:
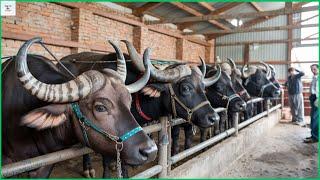
{"label": "grey trousers of the man with arms raised to his face", "polygon": [[304,122],[304,102],[303,95],[289,94],[289,105],[293,122]]}

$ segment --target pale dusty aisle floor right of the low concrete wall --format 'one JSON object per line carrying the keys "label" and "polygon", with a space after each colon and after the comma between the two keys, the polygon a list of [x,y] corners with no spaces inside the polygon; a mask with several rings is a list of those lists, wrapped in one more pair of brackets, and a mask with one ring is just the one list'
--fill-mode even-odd
{"label": "pale dusty aisle floor right of the low concrete wall", "polygon": [[283,122],[219,177],[316,177],[318,144],[305,144],[309,128]]}

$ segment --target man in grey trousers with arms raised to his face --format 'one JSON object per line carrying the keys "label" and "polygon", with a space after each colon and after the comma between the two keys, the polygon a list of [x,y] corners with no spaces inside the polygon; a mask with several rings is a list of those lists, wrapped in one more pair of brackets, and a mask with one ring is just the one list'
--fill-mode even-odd
{"label": "man in grey trousers with arms raised to his face", "polygon": [[304,76],[304,72],[290,67],[288,73],[289,76],[285,86],[288,88],[292,122],[305,127],[306,123],[304,121],[304,102],[302,95],[303,87],[301,82],[301,77]]}

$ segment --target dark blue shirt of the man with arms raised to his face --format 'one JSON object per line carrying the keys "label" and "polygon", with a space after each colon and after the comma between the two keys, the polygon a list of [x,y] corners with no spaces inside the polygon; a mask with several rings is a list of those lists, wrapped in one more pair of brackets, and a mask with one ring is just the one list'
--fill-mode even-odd
{"label": "dark blue shirt of the man with arms raised to his face", "polygon": [[296,70],[298,74],[290,75],[288,77],[285,86],[288,88],[288,93],[290,95],[300,94],[302,93],[302,82],[301,77],[304,76],[304,72]]}

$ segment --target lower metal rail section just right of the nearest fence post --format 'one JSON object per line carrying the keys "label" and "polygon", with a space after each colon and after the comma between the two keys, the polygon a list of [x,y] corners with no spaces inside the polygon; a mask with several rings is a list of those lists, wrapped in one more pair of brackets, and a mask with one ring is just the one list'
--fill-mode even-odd
{"label": "lower metal rail section just right of the nearest fence post", "polygon": [[200,144],[197,144],[196,146],[190,148],[190,149],[187,149],[179,154],[176,154],[174,156],[172,156],[170,158],[170,162],[171,164],[175,164],[177,163],[178,161],[188,157],[188,156],[191,156],[192,154],[198,152],[198,151],[201,151],[202,149],[224,139],[225,137],[228,137],[230,136],[231,134],[233,134],[235,132],[235,129],[234,128],[231,128],[231,129],[228,129],[226,130],[225,132],[223,133],[220,133],[218,134],[217,136],[214,136],[213,138],[207,140],[207,141],[204,141]]}

